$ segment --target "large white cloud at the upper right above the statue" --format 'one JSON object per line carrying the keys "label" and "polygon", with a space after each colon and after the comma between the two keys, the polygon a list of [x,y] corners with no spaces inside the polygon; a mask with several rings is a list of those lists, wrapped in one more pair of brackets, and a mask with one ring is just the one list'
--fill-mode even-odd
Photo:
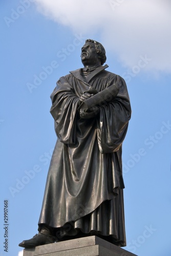
{"label": "large white cloud at the upper right above the statue", "polygon": [[88,37],[98,32],[105,48],[118,56],[125,67],[132,68],[140,56],[146,55],[151,61],[144,69],[171,71],[170,0],[35,0],[35,3],[42,14],[74,32]]}

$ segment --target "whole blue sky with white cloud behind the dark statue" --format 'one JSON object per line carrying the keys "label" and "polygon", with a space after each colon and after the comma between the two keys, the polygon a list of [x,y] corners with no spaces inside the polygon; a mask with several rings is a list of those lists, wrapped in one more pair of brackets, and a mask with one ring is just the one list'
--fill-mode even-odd
{"label": "whole blue sky with white cloud behind the dark statue", "polygon": [[167,0],[1,1],[1,256],[21,256],[18,243],[37,232],[56,142],[50,94],[60,76],[82,67],[88,38],[103,44],[108,70],[125,79],[132,103],[122,157],[125,249],[170,255],[170,7]]}

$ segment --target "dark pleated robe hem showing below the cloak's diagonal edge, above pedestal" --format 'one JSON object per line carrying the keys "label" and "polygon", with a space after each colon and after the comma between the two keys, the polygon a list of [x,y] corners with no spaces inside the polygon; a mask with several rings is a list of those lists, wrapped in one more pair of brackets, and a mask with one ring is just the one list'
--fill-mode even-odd
{"label": "dark pleated robe hem showing below the cloak's diagonal edge, above pedestal", "polygon": [[101,203],[90,214],[61,227],[50,227],[46,223],[38,224],[38,231],[43,226],[50,229],[58,241],[66,241],[87,236],[97,236],[112,244],[126,246],[124,226],[123,191],[118,197]]}

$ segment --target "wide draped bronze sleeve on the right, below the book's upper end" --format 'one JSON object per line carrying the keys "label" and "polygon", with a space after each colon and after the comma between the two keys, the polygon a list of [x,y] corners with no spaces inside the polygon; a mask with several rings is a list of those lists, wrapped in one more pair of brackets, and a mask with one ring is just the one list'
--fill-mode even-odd
{"label": "wide draped bronze sleeve on the right, below the book's upper end", "polygon": [[116,76],[114,82],[120,85],[119,93],[111,102],[100,106],[97,119],[97,139],[102,154],[119,150],[131,118],[130,98],[125,81]]}

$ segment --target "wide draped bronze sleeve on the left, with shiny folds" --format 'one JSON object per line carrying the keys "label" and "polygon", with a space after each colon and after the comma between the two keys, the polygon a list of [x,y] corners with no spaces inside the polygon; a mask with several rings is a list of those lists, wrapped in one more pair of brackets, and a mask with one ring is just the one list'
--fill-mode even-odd
{"label": "wide draped bronze sleeve on the left, with shiny folds", "polygon": [[65,144],[74,144],[79,97],[75,95],[71,84],[65,77],[57,81],[51,100],[50,113],[55,120],[55,132],[58,139]]}

